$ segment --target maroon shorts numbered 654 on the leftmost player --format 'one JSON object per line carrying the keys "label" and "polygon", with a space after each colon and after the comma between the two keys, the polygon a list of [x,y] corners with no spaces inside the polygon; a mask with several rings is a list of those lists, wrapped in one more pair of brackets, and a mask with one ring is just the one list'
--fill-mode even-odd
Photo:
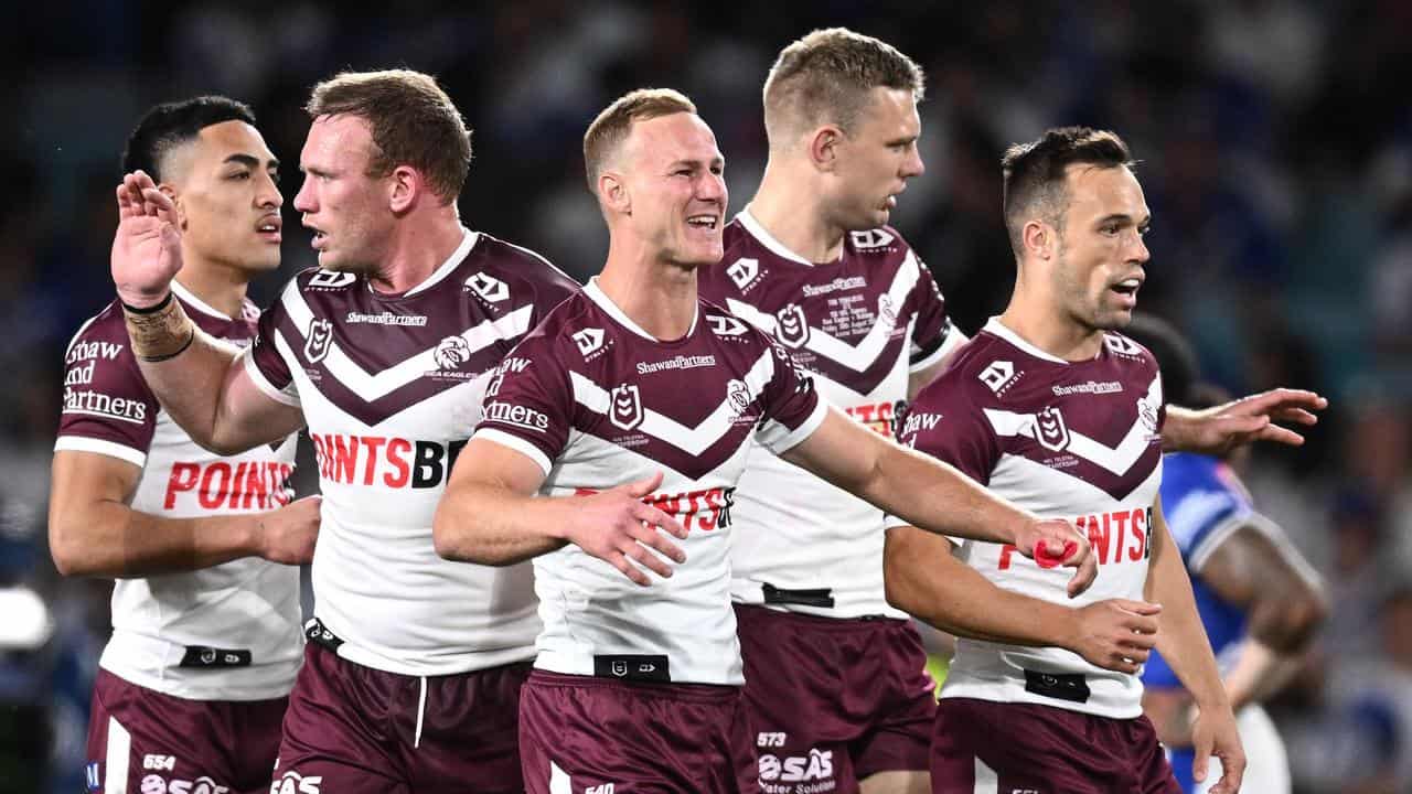
{"label": "maroon shorts numbered 654 on the leftmost player", "polygon": [[99,670],[89,790],[265,794],[287,702],[174,698]]}

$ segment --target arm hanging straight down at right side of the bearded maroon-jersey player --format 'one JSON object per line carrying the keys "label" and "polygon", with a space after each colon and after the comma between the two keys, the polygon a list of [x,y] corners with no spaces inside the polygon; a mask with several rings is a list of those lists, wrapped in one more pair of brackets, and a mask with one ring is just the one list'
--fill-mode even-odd
{"label": "arm hanging straight down at right side of the bearded maroon-jersey player", "polygon": [[1163,609],[1156,650],[1192,694],[1197,709],[1192,723],[1192,745],[1196,750],[1192,776],[1197,783],[1206,780],[1206,767],[1214,754],[1221,762],[1223,774],[1211,794],[1236,794],[1245,774],[1245,750],[1236,730],[1236,715],[1216,667],[1216,657],[1211,656],[1211,643],[1196,612],[1192,581],[1186,576],[1176,541],[1162,517],[1161,499],[1152,504],[1151,554],[1142,595],[1147,600],[1161,603]]}

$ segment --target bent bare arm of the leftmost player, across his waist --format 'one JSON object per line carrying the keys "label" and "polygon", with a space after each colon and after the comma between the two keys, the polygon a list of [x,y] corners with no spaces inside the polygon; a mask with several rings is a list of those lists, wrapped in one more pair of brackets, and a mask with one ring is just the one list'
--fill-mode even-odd
{"label": "bent bare arm of the leftmost player, across his waist", "polygon": [[152,576],[241,557],[313,559],[319,497],[267,513],[165,519],[128,507],[141,469],[97,452],[54,454],[49,551],[65,576]]}

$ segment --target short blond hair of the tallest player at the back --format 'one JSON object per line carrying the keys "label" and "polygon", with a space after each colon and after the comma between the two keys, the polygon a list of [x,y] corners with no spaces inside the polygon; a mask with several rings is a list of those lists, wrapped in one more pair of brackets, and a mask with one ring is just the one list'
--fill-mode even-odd
{"label": "short blond hair of the tallest player at the back", "polygon": [[871,90],[912,92],[922,100],[926,78],[891,44],[847,28],[816,30],[785,47],[765,78],[765,134],[771,146],[820,124],[853,134]]}

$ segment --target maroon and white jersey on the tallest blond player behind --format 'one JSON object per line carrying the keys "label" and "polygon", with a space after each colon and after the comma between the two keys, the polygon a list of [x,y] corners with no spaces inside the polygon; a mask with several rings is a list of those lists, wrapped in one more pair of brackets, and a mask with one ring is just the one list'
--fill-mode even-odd
{"label": "maroon and white jersey on the tallest blond player behind", "polygon": [[[700,270],[702,297],[771,333],[819,394],[885,434],[908,376],[949,350],[936,281],[897,230],[854,232],[839,261],[812,264],[750,211],[726,226],[726,256]],[[765,452],[736,499],[731,598],[830,617],[887,615],[882,511]]]}

